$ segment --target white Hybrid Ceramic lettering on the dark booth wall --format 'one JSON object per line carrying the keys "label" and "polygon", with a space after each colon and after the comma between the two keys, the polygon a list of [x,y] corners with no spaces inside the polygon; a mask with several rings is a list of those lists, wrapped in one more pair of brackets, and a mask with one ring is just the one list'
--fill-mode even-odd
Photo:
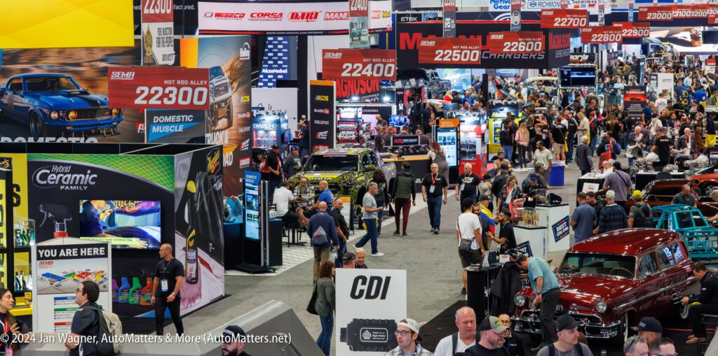
{"label": "white Hybrid Ceramic lettering on the dark booth wall", "polygon": [[92,170],[73,171],[73,165],[46,165],[32,173],[37,188],[60,188],[60,191],[86,191],[97,183]]}

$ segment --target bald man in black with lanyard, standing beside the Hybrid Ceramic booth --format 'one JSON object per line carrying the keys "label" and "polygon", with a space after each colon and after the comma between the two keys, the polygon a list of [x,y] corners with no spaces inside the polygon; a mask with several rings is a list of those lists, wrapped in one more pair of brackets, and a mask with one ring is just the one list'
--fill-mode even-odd
{"label": "bald man in black with lanyard, standing beside the Hybrid Ceramic booth", "polygon": [[172,257],[172,245],[159,246],[159,261],[154,271],[152,283],[152,299],[154,304],[154,321],[157,335],[164,335],[164,309],[169,308],[177,335],[185,334],[185,327],[180,317],[180,287],[185,280],[185,266]]}

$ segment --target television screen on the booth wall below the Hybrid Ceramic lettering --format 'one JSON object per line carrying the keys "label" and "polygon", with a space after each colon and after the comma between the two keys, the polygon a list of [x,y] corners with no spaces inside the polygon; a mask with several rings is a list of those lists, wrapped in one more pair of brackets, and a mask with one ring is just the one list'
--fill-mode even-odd
{"label": "television screen on the booth wall below the Hybrid Ceramic lettering", "polygon": [[109,242],[116,249],[159,249],[159,201],[80,201],[80,239]]}

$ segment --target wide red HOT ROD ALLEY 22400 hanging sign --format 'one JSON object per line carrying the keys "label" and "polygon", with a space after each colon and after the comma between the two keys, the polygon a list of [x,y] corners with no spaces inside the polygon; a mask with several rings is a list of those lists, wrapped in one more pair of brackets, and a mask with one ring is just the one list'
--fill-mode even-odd
{"label": "wide red HOT ROD ALLEY 22400 hanging sign", "polygon": [[325,80],[396,80],[396,51],[388,49],[324,49]]}

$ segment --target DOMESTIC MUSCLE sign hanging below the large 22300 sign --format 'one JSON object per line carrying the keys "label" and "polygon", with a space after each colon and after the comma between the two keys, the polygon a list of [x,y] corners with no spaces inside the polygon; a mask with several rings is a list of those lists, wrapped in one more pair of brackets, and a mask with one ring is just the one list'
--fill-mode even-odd
{"label": "DOMESTIC MUSCLE sign hanging below the large 22300 sign", "polygon": [[147,143],[204,143],[205,110],[146,110]]}

